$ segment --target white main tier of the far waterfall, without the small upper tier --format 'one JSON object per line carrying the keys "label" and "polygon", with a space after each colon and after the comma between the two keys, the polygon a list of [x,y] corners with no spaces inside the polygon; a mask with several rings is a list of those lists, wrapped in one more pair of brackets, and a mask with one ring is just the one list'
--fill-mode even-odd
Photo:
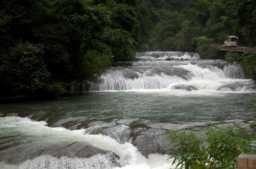
{"label": "white main tier of the far waterfall, without the small upper tier", "polygon": [[[254,81],[240,77],[243,77],[241,67],[224,61],[136,62],[130,67],[112,67],[101,76],[101,83],[88,82],[88,87],[78,88],[82,91],[256,92]],[[74,85],[72,91],[76,92],[76,88]]]}

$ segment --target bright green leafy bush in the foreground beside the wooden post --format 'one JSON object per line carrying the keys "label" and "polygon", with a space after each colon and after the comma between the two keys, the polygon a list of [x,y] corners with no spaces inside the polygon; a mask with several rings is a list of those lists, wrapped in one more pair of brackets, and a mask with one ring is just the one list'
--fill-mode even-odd
{"label": "bright green leafy bush in the foreground beside the wooden post", "polygon": [[167,131],[168,153],[185,169],[234,169],[241,153],[256,154],[256,136],[240,125],[212,126],[202,131]]}

